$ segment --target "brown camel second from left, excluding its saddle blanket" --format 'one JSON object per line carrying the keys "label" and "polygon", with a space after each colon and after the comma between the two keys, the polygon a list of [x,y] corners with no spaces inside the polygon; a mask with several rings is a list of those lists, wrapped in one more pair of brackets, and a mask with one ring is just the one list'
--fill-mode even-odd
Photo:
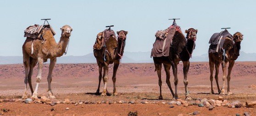
{"label": "brown camel second from left, excluding its saddle blanket", "polygon": [[[102,33],[99,33],[99,34],[102,34]],[[97,37],[99,37],[99,34],[97,35]],[[106,89],[106,84],[108,81],[108,65],[114,63],[113,76],[112,76],[112,81],[114,86],[113,95],[114,96],[117,95],[116,74],[117,74],[117,68],[120,63],[120,59],[122,58],[122,55],[123,55],[127,34],[128,34],[127,31],[120,30],[120,31],[117,31],[117,35],[118,35],[117,40],[114,37],[110,36],[110,38],[106,41],[106,48],[107,48],[107,52],[105,54],[106,61],[104,60],[104,53],[106,50],[105,47],[102,47],[100,50],[94,50],[94,56],[99,66],[99,85],[98,85],[96,94],[99,94],[100,92],[101,78],[103,78],[103,82],[104,82],[104,90],[102,91],[101,96],[106,96],[107,94],[109,94]],[[101,75],[102,67],[104,69],[103,76]]]}

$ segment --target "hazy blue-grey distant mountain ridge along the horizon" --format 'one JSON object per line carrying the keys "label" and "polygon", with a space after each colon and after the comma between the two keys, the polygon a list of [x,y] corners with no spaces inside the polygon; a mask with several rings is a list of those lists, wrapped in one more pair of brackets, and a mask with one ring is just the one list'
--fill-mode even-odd
{"label": "hazy blue-grey distant mountain ridge along the horizon", "polygon": [[[150,58],[151,52],[124,52],[122,63],[153,63],[153,58]],[[208,54],[192,56],[191,62],[209,61]],[[240,52],[236,61],[256,61],[256,53]],[[50,63],[50,60],[48,62]],[[61,56],[57,58],[57,63],[96,63],[93,53],[81,56]],[[0,56],[0,65],[4,64],[22,64],[22,56]]]}

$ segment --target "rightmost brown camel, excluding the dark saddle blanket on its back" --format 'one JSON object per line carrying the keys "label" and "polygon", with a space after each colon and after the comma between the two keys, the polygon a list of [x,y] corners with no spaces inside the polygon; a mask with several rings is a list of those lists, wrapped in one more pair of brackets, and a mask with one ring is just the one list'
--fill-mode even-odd
{"label": "rightmost brown camel, excluding the dark saddle blanket on its back", "polygon": [[[210,80],[211,80],[211,94],[214,94],[213,88],[212,88],[212,81],[213,81],[213,70],[214,70],[214,65],[215,65],[215,80],[217,83],[217,88],[219,94],[225,95],[225,80],[227,77],[228,80],[228,95],[233,94],[230,91],[230,75],[232,68],[234,66],[235,60],[239,56],[239,50],[240,50],[240,44],[241,41],[243,40],[243,35],[240,32],[236,32],[234,35],[234,41],[231,40],[229,37],[226,37],[223,43],[223,49],[225,50],[225,56],[223,56],[223,50],[221,49],[220,53],[209,53],[209,65],[210,65]],[[224,59],[224,61],[223,61]],[[228,76],[226,76],[226,66],[227,63],[229,62],[228,66]],[[219,66],[222,64],[222,69],[223,69],[223,86],[222,89],[220,90],[219,84],[218,84],[218,74],[219,74]]]}

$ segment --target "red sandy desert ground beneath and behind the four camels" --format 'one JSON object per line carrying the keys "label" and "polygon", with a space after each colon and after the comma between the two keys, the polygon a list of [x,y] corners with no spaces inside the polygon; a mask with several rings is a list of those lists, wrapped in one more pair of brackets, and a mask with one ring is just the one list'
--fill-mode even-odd
{"label": "red sandy desert ground beneath and behind the four camels", "polygon": [[[48,66],[43,69],[42,81],[39,85],[38,96],[47,96],[48,90],[47,75]],[[109,68],[108,91],[113,90],[111,81],[113,66]],[[211,83],[208,62],[191,62],[189,68],[189,91],[193,98],[215,99],[217,94],[210,94]],[[171,71],[172,72],[172,71]],[[37,74],[37,66],[32,77],[33,87]],[[256,88],[249,87],[256,85],[256,62],[236,62],[231,75],[231,91],[234,95],[223,95],[228,101],[245,102],[256,101]],[[165,72],[162,69],[162,93],[165,100],[157,100],[159,96],[158,77],[153,63],[125,64],[122,63],[117,71],[118,96],[96,96],[98,86],[98,66],[96,64],[57,64],[52,76],[52,91],[57,100],[66,98],[72,101],[148,101],[149,104],[57,104],[55,106],[45,104],[25,104],[21,102],[2,102],[0,109],[9,109],[3,115],[17,116],[127,116],[129,111],[138,111],[139,116],[177,116],[187,115],[194,111],[200,111],[197,116],[235,116],[236,113],[249,112],[250,116],[256,116],[256,108],[228,108],[215,107],[209,111],[206,107],[183,105],[177,106],[167,104],[153,104],[153,102],[169,102],[172,99],[171,92],[165,83]],[[178,65],[178,95],[184,100],[183,66]],[[174,90],[173,75],[171,85]],[[219,84],[222,86],[222,69],[220,68]],[[217,93],[216,81],[213,81],[214,92]],[[22,64],[0,65],[0,99],[20,99],[24,92],[24,68]],[[34,88],[33,88],[34,89]],[[101,82],[100,91],[103,89]],[[227,93],[227,81],[226,81]],[[31,96],[28,87],[29,96]],[[69,107],[69,110],[66,110]],[[53,111],[51,109],[54,108]],[[0,111],[1,113],[2,111]]]}

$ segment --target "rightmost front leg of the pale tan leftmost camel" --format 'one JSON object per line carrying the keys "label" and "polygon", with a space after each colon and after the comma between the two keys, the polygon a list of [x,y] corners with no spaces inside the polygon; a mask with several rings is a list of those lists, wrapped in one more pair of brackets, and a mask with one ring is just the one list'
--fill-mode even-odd
{"label": "rightmost front leg of the pale tan leftmost camel", "polygon": [[50,59],[49,74],[48,74],[48,77],[47,77],[48,96],[49,96],[50,99],[56,99],[56,97],[53,96],[53,93],[51,91],[51,81],[52,81],[51,75],[52,75],[52,71],[53,71],[53,68],[54,68],[55,65],[56,65],[56,58]]}

